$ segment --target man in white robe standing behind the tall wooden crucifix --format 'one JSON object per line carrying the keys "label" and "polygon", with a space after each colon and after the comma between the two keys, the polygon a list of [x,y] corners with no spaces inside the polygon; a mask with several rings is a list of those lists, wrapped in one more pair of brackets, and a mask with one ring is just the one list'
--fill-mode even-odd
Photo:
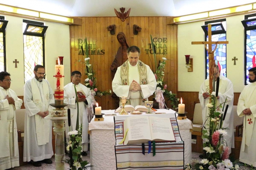
{"label": "man in white robe standing behind the tall wooden crucifix", "polygon": [[[233,117],[234,117],[233,116],[233,100],[234,100],[233,84],[229,79],[227,79],[223,75],[220,75],[220,71],[218,70],[218,67],[214,68],[214,73],[215,73],[214,74],[215,80],[217,80],[217,77],[220,77],[217,106],[220,105],[220,103],[224,103],[226,98],[228,102],[225,103],[224,111],[226,109],[227,104],[229,105],[222,128],[227,128],[226,129],[227,135],[226,136],[224,135],[223,138],[224,140],[226,140],[224,144],[227,144],[227,146],[229,147],[229,152],[231,153],[231,148],[235,147],[234,126],[233,126]],[[201,89],[199,91],[199,100],[202,106],[202,119],[203,119],[203,124],[205,126],[207,124],[205,123],[206,118],[209,115],[209,108],[206,106],[207,103],[209,103],[209,93],[206,90],[206,88],[209,88],[209,79],[206,79],[202,83]],[[223,105],[224,104],[222,104],[222,106]]]}

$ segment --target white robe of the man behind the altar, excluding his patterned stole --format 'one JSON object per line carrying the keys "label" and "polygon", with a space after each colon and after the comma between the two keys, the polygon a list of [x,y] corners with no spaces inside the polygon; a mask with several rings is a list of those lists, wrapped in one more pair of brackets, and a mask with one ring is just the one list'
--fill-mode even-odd
{"label": "white robe of the man behind the altar, excluding his patterned stole", "polygon": [[[129,62],[128,62],[129,63]],[[147,84],[141,84],[141,90],[137,92],[129,91],[130,84],[133,80],[140,83],[140,74],[138,71],[138,63],[135,66],[132,66],[129,63],[129,85],[122,85],[122,79],[120,76],[120,70],[121,67],[118,67],[116,70],[115,77],[112,81],[112,89],[113,92],[116,93],[116,96],[122,97],[127,96],[127,99],[130,99],[130,105],[133,107],[140,105],[140,93],[143,98],[148,100],[147,98],[156,90],[156,77],[151,71],[150,67],[146,65],[147,67]]]}

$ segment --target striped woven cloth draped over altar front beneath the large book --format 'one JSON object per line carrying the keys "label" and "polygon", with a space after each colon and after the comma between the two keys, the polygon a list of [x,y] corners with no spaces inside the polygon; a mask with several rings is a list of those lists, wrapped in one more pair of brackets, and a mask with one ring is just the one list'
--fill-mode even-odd
{"label": "striped woven cloth draped over altar front beneath the large book", "polygon": [[[151,114],[147,116],[169,117],[176,142],[153,142],[134,145],[118,144],[123,138],[123,122],[127,116],[115,117],[115,155],[117,170],[183,170],[184,142],[179,134],[175,114]],[[151,145],[149,147],[149,145]],[[144,148],[144,149],[143,149]],[[143,151],[144,150],[144,151]],[[144,154],[143,154],[144,152]],[[155,152],[155,156],[153,156]]]}

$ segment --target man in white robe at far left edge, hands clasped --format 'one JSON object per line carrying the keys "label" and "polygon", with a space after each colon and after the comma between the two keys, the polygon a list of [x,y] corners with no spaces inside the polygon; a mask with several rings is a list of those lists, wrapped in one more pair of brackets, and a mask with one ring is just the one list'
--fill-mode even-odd
{"label": "man in white robe at far left edge, hands clasped", "polygon": [[20,109],[22,100],[10,86],[10,74],[0,72],[0,170],[20,166],[15,110]]}

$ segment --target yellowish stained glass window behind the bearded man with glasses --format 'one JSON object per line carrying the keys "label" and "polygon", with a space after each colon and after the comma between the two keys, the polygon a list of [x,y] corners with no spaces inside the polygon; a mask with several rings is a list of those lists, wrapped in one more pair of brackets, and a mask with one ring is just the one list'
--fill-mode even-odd
{"label": "yellowish stained glass window behind the bearded man with glasses", "polygon": [[34,77],[34,67],[45,65],[44,39],[47,26],[43,23],[23,20],[24,78]]}

